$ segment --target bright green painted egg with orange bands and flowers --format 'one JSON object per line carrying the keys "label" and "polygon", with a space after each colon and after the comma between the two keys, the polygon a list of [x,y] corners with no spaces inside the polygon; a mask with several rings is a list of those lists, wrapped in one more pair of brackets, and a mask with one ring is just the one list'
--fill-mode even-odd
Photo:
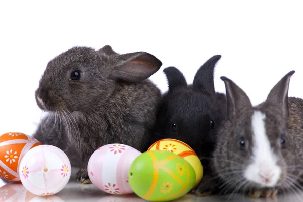
{"label": "bright green painted egg with orange bands and flowers", "polygon": [[164,150],[146,151],[129,169],[131,188],[149,201],[179,198],[193,188],[195,179],[195,172],[187,161]]}

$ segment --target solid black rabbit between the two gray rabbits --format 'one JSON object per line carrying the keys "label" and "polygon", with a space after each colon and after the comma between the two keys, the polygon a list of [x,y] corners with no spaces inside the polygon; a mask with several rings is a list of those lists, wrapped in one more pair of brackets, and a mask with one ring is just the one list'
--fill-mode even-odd
{"label": "solid black rabbit between the two gray rabbits", "polygon": [[188,144],[205,167],[217,136],[217,127],[226,119],[226,96],[216,93],[214,68],[220,55],[213,56],[197,71],[192,85],[175,67],[164,69],[169,90],[163,95],[151,143],[165,138]]}

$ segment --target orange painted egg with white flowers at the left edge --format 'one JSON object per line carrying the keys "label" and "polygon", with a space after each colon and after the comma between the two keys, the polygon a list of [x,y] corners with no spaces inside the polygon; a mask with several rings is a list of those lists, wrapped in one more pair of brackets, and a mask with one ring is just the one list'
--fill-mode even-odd
{"label": "orange painted egg with white flowers at the left edge", "polygon": [[18,165],[32,148],[42,145],[34,137],[20,132],[9,132],[0,136],[0,177],[20,182]]}

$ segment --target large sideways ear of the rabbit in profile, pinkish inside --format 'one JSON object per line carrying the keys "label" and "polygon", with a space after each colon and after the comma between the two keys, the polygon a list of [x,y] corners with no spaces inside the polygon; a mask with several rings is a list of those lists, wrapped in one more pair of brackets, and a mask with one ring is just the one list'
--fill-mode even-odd
{"label": "large sideways ear of the rabbit in profile, pinkish inside", "polygon": [[162,62],[146,52],[116,55],[111,61],[114,69],[109,79],[139,82],[149,78],[162,66]]}

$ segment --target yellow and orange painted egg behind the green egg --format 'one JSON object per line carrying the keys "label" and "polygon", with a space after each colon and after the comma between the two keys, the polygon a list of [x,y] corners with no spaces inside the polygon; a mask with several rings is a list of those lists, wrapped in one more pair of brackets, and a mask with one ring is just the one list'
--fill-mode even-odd
{"label": "yellow and orange painted egg behind the green egg", "polygon": [[147,151],[150,150],[166,150],[179,155],[185,159],[195,171],[196,180],[194,186],[200,183],[203,176],[203,167],[201,161],[194,150],[184,142],[176,139],[162,139],[151,145]]}

